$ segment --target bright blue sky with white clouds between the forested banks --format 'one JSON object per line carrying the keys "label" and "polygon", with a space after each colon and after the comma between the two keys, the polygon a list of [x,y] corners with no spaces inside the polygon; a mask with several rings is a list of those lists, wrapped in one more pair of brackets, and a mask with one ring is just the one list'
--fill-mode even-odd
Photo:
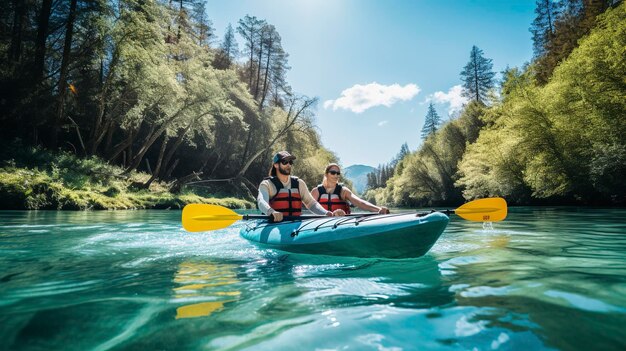
{"label": "bright blue sky with white clouds between the forested banks", "polygon": [[247,14],[276,27],[287,82],[319,99],[322,143],[344,167],[388,163],[405,142],[416,150],[430,102],[442,120],[454,115],[473,45],[494,72],[532,58],[534,0],[208,0],[206,8],[218,40]]}

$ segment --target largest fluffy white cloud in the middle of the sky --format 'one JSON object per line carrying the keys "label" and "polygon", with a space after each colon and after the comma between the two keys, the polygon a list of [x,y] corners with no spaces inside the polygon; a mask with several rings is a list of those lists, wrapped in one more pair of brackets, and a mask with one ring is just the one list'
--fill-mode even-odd
{"label": "largest fluffy white cloud in the middle of the sky", "polygon": [[361,113],[375,106],[391,107],[398,101],[411,100],[419,94],[420,88],[415,84],[381,85],[376,82],[367,85],[355,84],[341,92],[341,96],[335,100],[324,101],[324,108],[332,107],[337,109],[350,110],[354,113]]}

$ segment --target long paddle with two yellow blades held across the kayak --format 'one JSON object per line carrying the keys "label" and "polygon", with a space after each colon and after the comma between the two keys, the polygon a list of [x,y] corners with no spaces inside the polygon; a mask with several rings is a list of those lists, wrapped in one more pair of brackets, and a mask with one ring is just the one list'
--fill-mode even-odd
{"label": "long paddle with two yellow blades held across the kayak", "polygon": [[[442,210],[447,215],[451,210]],[[470,201],[454,210],[459,217],[474,222],[498,222],[506,218],[507,207],[503,198],[493,197]],[[422,214],[422,213],[420,213]],[[423,213],[425,215],[427,213]],[[358,213],[349,216],[373,216],[377,213]],[[189,204],[183,208],[183,228],[188,232],[203,232],[207,230],[222,229],[239,220],[270,219],[267,215],[241,215],[237,212],[219,205]],[[324,218],[326,216],[303,215],[285,216],[284,220]]]}

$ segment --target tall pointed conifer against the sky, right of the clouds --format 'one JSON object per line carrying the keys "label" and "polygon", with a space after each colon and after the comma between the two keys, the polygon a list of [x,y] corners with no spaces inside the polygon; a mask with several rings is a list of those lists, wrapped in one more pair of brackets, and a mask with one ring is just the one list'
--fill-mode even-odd
{"label": "tall pointed conifer against the sky, right of the clouds", "polygon": [[483,51],[472,46],[470,60],[461,72],[463,96],[484,104],[487,92],[494,87],[493,64],[483,56]]}

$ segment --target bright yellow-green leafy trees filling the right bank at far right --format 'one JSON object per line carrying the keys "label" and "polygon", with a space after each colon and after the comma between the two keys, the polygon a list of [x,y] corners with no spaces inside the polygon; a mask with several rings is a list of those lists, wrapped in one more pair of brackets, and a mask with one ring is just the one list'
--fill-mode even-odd
{"label": "bright yellow-green leafy trees filling the right bank at far right", "polygon": [[488,129],[468,148],[457,182],[466,198],[561,198],[623,203],[626,11],[599,24],[539,87],[532,71],[507,76]]}

